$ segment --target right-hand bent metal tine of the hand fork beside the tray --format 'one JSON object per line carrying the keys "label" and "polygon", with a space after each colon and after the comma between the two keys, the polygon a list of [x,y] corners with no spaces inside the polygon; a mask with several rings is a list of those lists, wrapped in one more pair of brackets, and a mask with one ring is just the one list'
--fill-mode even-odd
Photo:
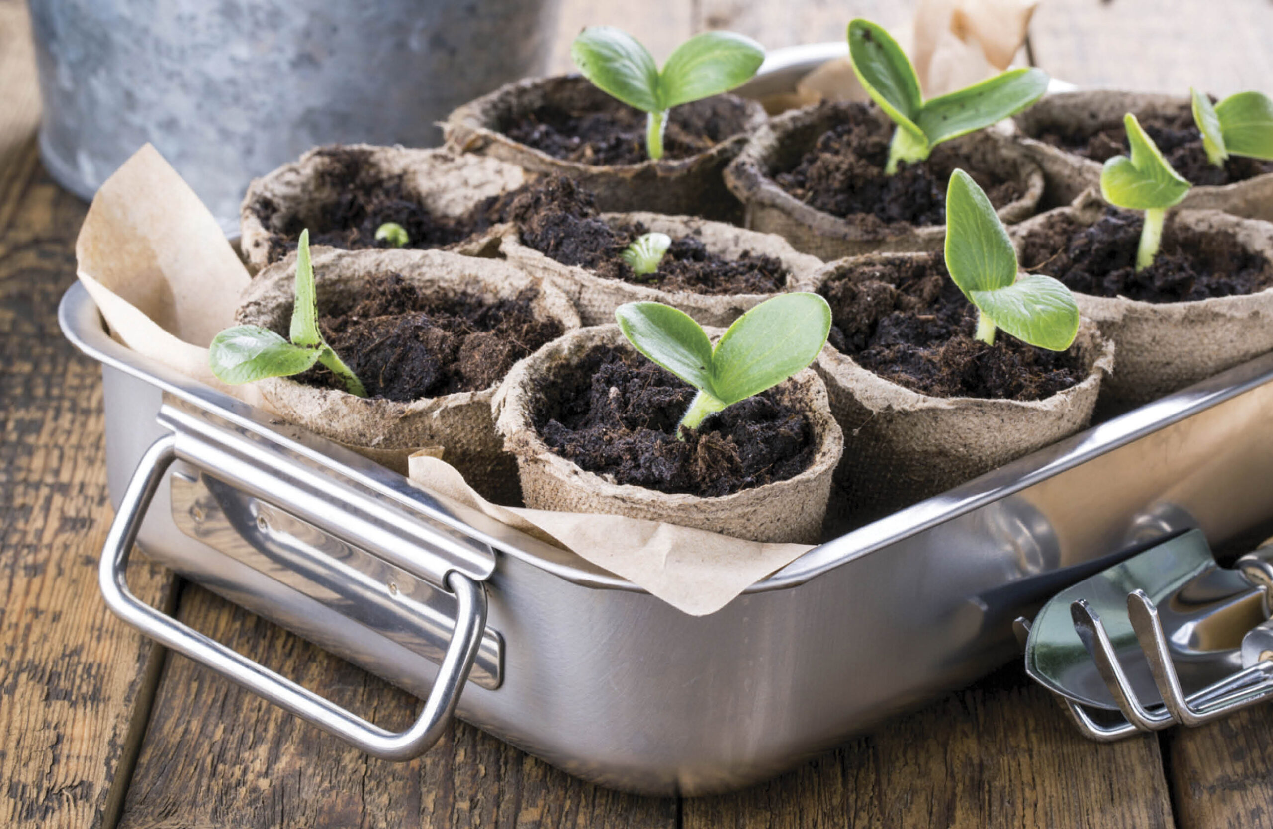
{"label": "right-hand bent metal tine of the hand fork beside the tray", "polygon": [[1185,697],[1153,601],[1143,590],[1133,590],[1127,596],[1127,613],[1164,706],[1176,722],[1198,726],[1273,695],[1273,662],[1260,661]]}

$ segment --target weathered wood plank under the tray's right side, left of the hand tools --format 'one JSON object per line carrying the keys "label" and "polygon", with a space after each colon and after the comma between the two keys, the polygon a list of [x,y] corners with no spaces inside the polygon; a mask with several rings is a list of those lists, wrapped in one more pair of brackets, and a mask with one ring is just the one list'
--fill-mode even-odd
{"label": "weathered wood plank under the tray's right side, left of the hand tools", "polygon": [[1153,737],[1099,745],[1006,668],[738,795],[685,801],[686,829],[1171,825]]}

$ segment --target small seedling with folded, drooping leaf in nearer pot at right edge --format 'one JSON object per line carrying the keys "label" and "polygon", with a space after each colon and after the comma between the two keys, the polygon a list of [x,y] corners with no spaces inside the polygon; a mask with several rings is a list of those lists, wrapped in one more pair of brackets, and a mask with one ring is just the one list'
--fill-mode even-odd
{"label": "small seedling with folded, drooping leaf in nearer pot at right edge", "polygon": [[1171,169],[1153,139],[1144,134],[1130,112],[1123,116],[1130,155],[1115,155],[1101,169],[1101,196],[1111,205],[1144,211],[1144,229],[1136,250],[1136,270],[1153,264],[1162,244],[1162,224],[1167,207],[1180,203],[1189,192],[1189,182]]}

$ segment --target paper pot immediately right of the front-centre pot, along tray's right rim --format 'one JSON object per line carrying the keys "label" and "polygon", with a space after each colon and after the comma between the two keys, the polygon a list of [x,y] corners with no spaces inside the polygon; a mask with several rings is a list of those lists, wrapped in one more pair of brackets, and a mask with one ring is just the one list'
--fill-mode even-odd
{"label": "paper pot immediately right of the front-centre pot, along tray's right rim", "polygon": [[[915,256],[928,254],[840,259],[802,287],[817,290],[829,280],[854,278],[864,266]],[[872,278],[880,272],[872,271]],[[827,345],[813,367],[826,381],[831,412],[844,430],[836,479],[855,520],[873,520],[938,495],[1087,426],[1115,351],[1087,320],[1072,347],[1078,348],[1087,376],[1043,401],[1018,402],[920,394]]]}

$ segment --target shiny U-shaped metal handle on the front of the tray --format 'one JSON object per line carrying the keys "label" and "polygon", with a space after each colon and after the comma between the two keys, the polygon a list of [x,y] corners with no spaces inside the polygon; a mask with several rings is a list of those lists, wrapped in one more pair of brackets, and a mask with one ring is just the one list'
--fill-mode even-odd
{"label": "shiny U-shaped metal handle on the front of the tray", "polygon": [[[386,731],[155,610],[129,590],[126,581],[129,553],[136,540],[146,507],[150,506],[164,472],[177,456],[176,441],[176,435],[164,435],[146,449],[120,502],[111,531],[106,537],[98,572],[98,584],[107,606],[157,642],[234,680],[373,757],[406,760],[432,748],[451,720],[481,643],[482,629],[486,626],[486,591],[481,582],[460,572],[448,573],[447,586],[458,599],[458,608],[456,628],[438,669],[438,678],[415,723],[397,734]],[[215,470],[209,472],[215,473]]]}

